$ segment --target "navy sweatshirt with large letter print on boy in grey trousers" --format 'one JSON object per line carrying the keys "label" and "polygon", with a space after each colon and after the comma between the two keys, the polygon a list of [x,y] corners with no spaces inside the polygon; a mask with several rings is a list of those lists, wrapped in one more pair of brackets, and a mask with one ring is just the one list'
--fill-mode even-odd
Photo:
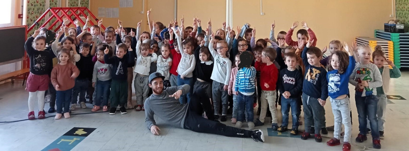
{"label": "navy sweatshirt with large letter print on boy in grey trousers", "polygon": [[327,70],[323,67],[310,65],[307,59],[307,51],[309,48],[304,47],[302,51],[302,61],[305,65],[305,75],[302,87],[302,92],[313,98],[328,98],[328,82]]}

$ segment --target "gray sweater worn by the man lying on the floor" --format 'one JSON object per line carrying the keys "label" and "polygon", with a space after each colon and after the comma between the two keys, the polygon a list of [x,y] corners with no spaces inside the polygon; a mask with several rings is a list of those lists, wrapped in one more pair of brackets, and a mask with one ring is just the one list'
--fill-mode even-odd
{"label": "gray sweater worn by the man lying on the floor", "polygon": [[173,127],[180,127],[183,129],[186,113],[188,111],[188,104],[181,104],[179,99],[169,96],[173,95],[178,90],[182,90],[183,94],[187,94],[189,89],[190,86],[187,84],[177,87],[168,87],[162,92],[162,94],[152,94],[147,98],[144,107],[146,115],[145,122],[148,129],[151,130],[151,127],[156,125],[154,115]]}

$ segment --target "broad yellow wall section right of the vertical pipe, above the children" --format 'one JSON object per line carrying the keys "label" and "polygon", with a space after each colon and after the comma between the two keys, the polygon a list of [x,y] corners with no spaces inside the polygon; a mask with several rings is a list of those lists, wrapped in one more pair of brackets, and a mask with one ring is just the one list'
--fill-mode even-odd
{"label": "broad yellow wall section right of the vertical pipe, above the children", "polygon": [[[317,35],[317,46],[322,48],[331,40],[352,43],[356,36],[374,36],[375,29],[383,29],[392,13],[391,0],[263,0],[260,15],[259,1],[249,4],[246,0],[233,1],[233,24],[242,26],[248,22],[255,27],[256,39],[269,36],[275,20],[275,36],[281,30],[288,31],[293,21],[305,20]],[[293,39],[296,39],[296,35]]]}

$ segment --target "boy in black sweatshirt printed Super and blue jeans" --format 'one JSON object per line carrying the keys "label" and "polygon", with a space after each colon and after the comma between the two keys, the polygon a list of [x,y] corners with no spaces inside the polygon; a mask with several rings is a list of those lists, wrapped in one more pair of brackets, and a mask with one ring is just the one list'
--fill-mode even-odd
{"label": "boy in black sweatshirt printed Super and blue jeans", "polygon": [[292,128],[290,135],[298,135],[298,118],[300,115],[298,98],[301,95],[303,76],[296,68],[298,56],[294,52],[288,52],[284,56],[287,68],[280,70],[278,76],[278,89],[281,92],[281,113],[283,115],[282,125],[278,132],[288,130],[288,113],[291,107]]}

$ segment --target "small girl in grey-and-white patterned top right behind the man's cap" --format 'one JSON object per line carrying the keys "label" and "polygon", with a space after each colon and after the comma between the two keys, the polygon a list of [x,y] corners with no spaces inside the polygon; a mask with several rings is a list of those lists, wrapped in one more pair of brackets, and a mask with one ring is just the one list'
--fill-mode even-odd
{"label": "small girl in grey-and-white patterned top right behind the man's cap", "polygon": [[170,56],[171,53],[171,46],[168,43],[162,45],[162,54],[158,56],[157,72],[161,73],[165,80],[163,81],[163,88],[166,90],[167,87],[171,86],[171,82],[169,82],[169,69],[172,67],[172,57]]}

